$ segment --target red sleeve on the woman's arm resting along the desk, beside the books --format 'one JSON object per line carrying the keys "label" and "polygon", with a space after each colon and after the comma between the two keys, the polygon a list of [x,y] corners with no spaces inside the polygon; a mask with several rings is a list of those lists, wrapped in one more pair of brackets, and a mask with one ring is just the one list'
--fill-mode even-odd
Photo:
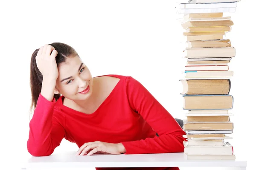
{"label": "red sleeve on the woman's arm resting along the desk, beside the books", "polygon": [[131,109],[158,133],[159,136],[145,140],[121,142],[125,154],[183,152],[182,135],[186,134],[172,115],[136,79],[127,77],[127,95]]}

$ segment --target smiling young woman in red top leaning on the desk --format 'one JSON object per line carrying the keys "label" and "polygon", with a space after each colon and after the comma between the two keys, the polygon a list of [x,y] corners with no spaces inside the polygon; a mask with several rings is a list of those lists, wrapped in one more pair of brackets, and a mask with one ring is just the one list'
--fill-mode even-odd
{"label": "smiling young woman in red top leaning on the desk", "polygon": [[77,144],[77,155],[183,152],[186,133],[133,77],[92,77],[76,51],[59,42],[36,49],[30,71],[32,156],[49,156],[63,138]]}

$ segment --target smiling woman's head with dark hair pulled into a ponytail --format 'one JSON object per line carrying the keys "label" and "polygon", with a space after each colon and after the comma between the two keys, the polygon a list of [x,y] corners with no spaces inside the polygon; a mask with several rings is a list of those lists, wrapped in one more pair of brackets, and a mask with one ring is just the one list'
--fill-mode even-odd
{"label": "smiling woman's head with dark hair pulled into a ponytail", "polygon": [[[58,51],[55,61],[58,67],[58,78],[54,91],[54,98],[57,100],[60,94],[71,100],[87,99],[92,93],[93,77],[87,66],[81,61],[77,52],[71,46],[54,42],[49,44]],[[31,108],[36,107],[38,96],[41,93],[43,76],[39,71],[35,57],[39,48],[36,49],[30,62],[30,88],[32,94]],[[90,84],[90,91],[87,94],[80,94]]]}

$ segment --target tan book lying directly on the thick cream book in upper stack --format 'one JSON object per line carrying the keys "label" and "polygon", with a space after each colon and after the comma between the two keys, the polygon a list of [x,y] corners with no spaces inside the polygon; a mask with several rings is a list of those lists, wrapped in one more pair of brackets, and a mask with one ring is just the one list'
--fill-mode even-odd
{"label": "tan book lying directly on the thick cream book in upper stack", "polygon": [[223,40],[200,40],[200,41],[187,41],[187,48],[218,48],[218,47],[231,47],[229,39]]}

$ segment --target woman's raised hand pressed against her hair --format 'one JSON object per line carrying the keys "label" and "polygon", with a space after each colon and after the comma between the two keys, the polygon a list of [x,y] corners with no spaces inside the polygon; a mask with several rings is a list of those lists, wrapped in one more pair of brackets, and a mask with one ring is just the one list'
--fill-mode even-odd
{"label": "woman's raised hand pressed against her hair", "polygon": [[58,52],[51,45],[44,45],[35,57],[36,65],[43,75],[43,79],[55,80],[58,78],[58,68],[55,57]]}

